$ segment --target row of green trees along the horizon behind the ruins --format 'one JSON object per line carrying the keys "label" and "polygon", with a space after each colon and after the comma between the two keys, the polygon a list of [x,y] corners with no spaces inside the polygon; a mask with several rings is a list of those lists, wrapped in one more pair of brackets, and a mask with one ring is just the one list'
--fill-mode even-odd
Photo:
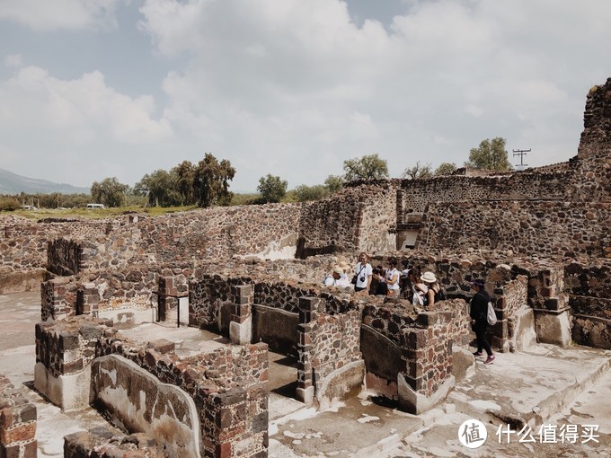
{"label": "row of green trees along the horizon behind the ruins", "polygon": [[[465,166],[494,171],[510,171],[511,165],[505,149],[506,140],[501,137],[486,138],[478,147],[469,152]],[[433,170],[430,163],[415,163],[403,171],[403,178],[415,180],[456,172],[456,163],[441,163]],[[115,177],[100,182],[94,181],[91,197],[85,194],[62,195],[22,195],[4,197],[0,209],[16,209],[21,202],[31,202],[37,207],[84,207],[90,198],[107,207],[144,205],[148,207],[212,207],[234,204],[264,204],[270,202],[306,201],[325,198],[341,189],[345,182],[356,180],[387,179],[388,165],[378,154],[367,154],[348,159],[343,163],[343,175],[329,175],[323,184],[305,184],[288,190],[288,181],[268,173],[259,179],[258,194],[236,198],[229,190],[229,182],[235,177],[235,168],[223,159],[218,161],[206,153],[199,163],[183,161],[170,171],[163,169],[147,173],[136,185],[130,188]],[[8,198],[8,200],[7,200]],[[13,199],[11,201],[11,198]],[[36,203],[34,203],[36,200]],[[7,205],[10,202],[10,205]]]}

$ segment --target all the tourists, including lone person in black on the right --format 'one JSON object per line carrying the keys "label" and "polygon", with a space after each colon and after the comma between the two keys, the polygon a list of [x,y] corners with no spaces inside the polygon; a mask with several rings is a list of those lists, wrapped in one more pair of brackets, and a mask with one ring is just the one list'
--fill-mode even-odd
{"label": "all the tourists, including lone person in black on the right", "polygon": [[[372,267],[369,256],[365,252],[359,254],[359,262],[355,266],[354,275],[349,279],[350,265],[341,261],[332,269],[332,274],[324,278],[326,286],[353,287],[357,293],[369,295],[388,295],[394,298],[403,297],[414,305],[427,306],[445,300],[446,295],[439,285],[438,278],[433,272],[421,272],[418,266],[409,267],[407,261],[403,261],[403,269],[398,269],[398,261],[392,257],[387,260],[387,265],[380,264]],[[486,313],[490,296],[484,288],[481,279],[471,282],[475,293],[471,299],[470,320],[471,327],[475,332],[477,351],[474,357],[483,357],[486,351],[487,359],[484,364],[491,364],[495,357],[492,354],[490,343],[485,337],[488,321]]]}

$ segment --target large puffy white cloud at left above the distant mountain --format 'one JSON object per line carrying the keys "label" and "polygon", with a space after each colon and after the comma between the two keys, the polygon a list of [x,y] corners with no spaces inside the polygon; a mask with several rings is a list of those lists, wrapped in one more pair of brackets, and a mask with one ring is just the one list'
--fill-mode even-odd
{"label": "large puffy white cloud at left above the distant mountain", "polygon": [[150,171],[133,177],[133,164],[173,137],[170,122],[155,119],[152,97],[117,92],[99,72],[66,81],[24,66],[0,81],[0,100],[0,150],[10,153],[3,168],[32,178],[137,181]]}

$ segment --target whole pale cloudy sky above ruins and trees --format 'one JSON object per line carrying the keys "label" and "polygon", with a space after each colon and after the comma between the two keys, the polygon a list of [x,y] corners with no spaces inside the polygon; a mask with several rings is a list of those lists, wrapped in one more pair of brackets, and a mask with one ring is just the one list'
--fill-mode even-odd
{"label": "whole pale cloudy sky above ruins and trees", "polygon": [[0,0],[0,168],[133,186],[211,153],[251,192],[493,137],[565,162],[609,24],[608,0]]}

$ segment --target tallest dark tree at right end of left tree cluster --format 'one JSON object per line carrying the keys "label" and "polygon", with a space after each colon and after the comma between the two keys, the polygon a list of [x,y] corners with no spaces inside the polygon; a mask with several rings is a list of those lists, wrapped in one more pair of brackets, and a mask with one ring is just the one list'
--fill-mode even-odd
{"label": "tallest dark tree at right end of left tree cluster", "polygon": [[226,159],[220,163],[210,153],[199,161],[193,178],[193,191],[199,207],[229,205],[233,194],[229,181],[235,177],[235,168]]}

